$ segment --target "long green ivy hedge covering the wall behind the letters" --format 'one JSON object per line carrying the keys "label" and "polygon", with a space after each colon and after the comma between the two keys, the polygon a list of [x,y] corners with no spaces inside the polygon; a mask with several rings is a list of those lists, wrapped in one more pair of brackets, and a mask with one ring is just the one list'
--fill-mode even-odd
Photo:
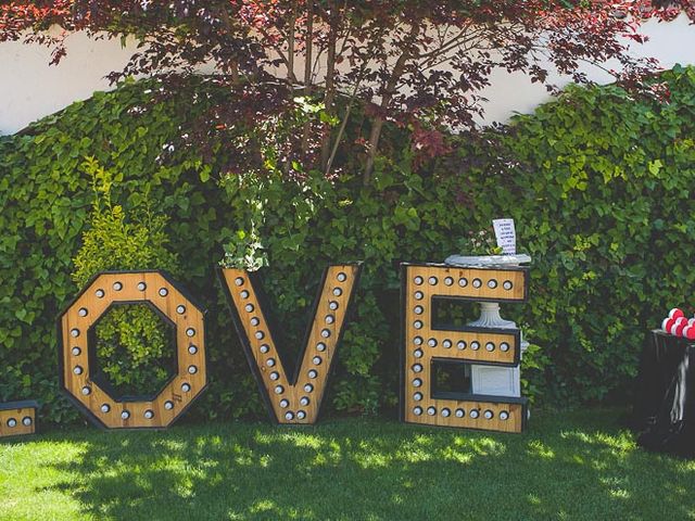
{"label": "long green ivy hedge covering the wall behind the letters", "polygon": [[534,344],[527,393],[553,404],[624,397],[645,331],[669,307],[695,307],[695,69],[662,79],[668,104],[572,87],[505,130],[451,137],[454,153],[417,169],[407,132],[389,129],[368,188],[350,163],[333,182],[300,186],[222,175],[224,143],[207,161],[173,147],[200,111],[233,102],[200,81],[161,103],[156,81],[124,85],[0,138],[0,399],[40,397],[51,421],[77,417],[58,389],[54,320],[77,292],[85,156],[123,173],[113,196],[126,208],[150,183],[154,209],[170,217],[181,282],[208,305],[211,389],[195,415],[265,415],[214,276],[238,230],[255,228],[267,253],[288,361],[320,269],[365,262],[329,399],[332,410],[372,412],[397,391],[399,263],[441,260],[501,216],[516,219],[534,258],[530,302],[505,307]]}

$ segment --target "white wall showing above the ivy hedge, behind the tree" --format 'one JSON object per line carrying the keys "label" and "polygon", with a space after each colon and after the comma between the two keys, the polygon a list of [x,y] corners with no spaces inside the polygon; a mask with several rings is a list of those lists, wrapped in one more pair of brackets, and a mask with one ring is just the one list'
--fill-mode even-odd
{"label": "white wall showing above the ivy hedge, behind the tree", "polygon": [[[643,33],[650,40],[632,46],[635,54],[657,58],[664,68],[675,63],[695,64],[695,25],[685,15],[668,24],[649,22]],[[61,64],[49,66],[48,49],[0,43],[0,135],[16,132],[73,101],[89,98],[96,90],[109,89],[104,75],[121,69],[132,50],[132,43],[123,49],[119,41],[93,41],[77,34],[68,38],[68,53]],[[587,72],[596,81],[610,81],[595,67]],[[497,71],[492,80],[482,93],[490,101],[481,123],[506,122],[514,113],[532,112],[549,100],[545,87],[531,84],[521,74]],[[564,85],[568,79],[557,77],[554,81]]]}

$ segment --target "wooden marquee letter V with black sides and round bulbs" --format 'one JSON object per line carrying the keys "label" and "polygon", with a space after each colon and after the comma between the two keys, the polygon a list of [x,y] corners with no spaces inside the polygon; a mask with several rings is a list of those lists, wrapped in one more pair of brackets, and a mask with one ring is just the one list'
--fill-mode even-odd
{"label": "wooden marquee letter V with black sides and round bulbs", "polygon": [[301,365],[291,379],[256,292],[257,276],[238,268],[222,269],[237,333],[270,416],[278,423],[316,422],[361,269],[361,264],[341,264],[324,271]]}

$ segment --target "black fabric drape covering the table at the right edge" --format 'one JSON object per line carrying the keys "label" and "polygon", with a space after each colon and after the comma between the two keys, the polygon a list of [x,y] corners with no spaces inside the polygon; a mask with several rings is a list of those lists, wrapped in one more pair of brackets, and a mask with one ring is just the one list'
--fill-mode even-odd
{"label": "black fabric drape covering the table at the right edge", "polygon": [[637,443],[649,450],[695,457],[695,342],[652,331],[635,391]]}

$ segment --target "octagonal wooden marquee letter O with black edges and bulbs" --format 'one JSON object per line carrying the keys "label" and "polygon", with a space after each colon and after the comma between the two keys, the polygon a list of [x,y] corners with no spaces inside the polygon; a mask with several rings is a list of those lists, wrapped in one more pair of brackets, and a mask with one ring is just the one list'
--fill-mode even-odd
{"label": "octagonal wooden marquee letter O with black edges and bulbs", "polygon": [[[155,396],[114,396],[108,382],[90,372],[93,327],[112,306],[124,304],[147,304],[175,328],[177,371]],[[58,328],[61,386],[101,428],[167,428],[207,385],[204,312],[162,271],[97,275],[61,314]]]}

